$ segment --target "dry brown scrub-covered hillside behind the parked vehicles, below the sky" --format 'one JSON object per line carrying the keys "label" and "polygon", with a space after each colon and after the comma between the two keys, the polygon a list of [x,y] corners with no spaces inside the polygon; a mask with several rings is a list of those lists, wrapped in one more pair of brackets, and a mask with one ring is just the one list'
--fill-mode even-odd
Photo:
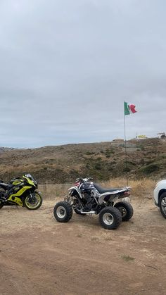
{"label": "dry brown scrub-covered hillside behind the parked vehicles, below the sky", "polygon": [[31,173],[39,183],[72,182],[78,176],[95,180],[111,177],[166,178],[166,140],[141,139],[127,142],[127,165],[124,142],[67,144],[38,149],[0,148],[0,178]]}

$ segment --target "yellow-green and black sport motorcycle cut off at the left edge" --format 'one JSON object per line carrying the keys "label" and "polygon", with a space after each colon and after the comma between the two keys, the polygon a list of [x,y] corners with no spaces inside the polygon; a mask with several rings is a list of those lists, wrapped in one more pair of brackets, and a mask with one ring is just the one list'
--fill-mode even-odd
{"label": "yellow-green and black sport motorcycle cut off at the left edge", "polygon": [[42,204],[42,197],[36,189],[37,182],[30,174],[14,178],[8,184],[0,181],[0,209],[18,205],[37,210]]}

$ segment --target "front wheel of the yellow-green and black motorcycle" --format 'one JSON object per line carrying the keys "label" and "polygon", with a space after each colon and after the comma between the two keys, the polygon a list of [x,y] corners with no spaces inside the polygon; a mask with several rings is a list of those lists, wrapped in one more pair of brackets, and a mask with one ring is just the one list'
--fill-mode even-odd
{"label": "front wheel of the yellow-green and black motorcycle", "polygon": [[28,210],[37,210],[40,208],[41,204],[43,202],[43,199],[41,195],[38,192],[34,192],[33,195],[28,195],[25,197],[23,203],[24,206]]}

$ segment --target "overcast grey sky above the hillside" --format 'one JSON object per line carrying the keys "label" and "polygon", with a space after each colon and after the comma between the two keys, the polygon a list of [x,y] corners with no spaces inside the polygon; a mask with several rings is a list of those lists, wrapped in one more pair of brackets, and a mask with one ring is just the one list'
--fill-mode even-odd
{"label": "overcast grey sky above the hillside", "polygon": [[0,0],[0,146],[166,132],[165,0]]}

